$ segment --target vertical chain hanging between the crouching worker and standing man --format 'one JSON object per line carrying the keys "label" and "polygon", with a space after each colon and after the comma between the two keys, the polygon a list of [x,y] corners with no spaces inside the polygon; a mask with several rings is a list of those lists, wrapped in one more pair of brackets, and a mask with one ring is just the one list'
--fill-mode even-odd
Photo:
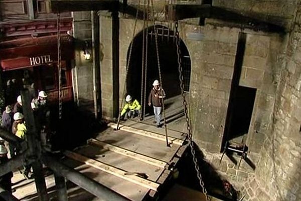
{"label": "vertical chain hanging between the crouching worker and standing man", "polygon": [[[143,107],[143,112],[145,111],[145,102],[143,103],[142,101],[144,100],[143,98],[143,89],[144,89],[144,85],[143,85],[143,80],[144,80],[144,44],[145,44],[145,1],[144,0],[144,5],[143,5],[143,29],[142,29],[142,64],[141,64],[141,104]],[[147,33],[146,33],[147,34]],[[146,83],[145,83],[146,84]],[[140,119],[144,119],[144,115],[142,116],[142,114],[140,114]]]}

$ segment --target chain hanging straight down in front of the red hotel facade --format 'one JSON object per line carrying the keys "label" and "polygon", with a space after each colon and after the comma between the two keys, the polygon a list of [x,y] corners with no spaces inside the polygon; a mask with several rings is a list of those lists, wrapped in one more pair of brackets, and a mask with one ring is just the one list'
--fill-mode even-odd
{"label": "chain hanging straight down in front of the red hotel facade", "polygon": [[57,32],[58,32],[58,74],[59,74],[59,119],[62,119],[62,75],[61,75],[61,16],[57,14]]}

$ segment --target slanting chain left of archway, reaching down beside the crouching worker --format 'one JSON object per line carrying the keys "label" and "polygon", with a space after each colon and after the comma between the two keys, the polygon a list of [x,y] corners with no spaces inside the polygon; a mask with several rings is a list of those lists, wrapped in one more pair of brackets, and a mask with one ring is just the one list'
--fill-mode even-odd
{"label": "slanting chain left of archway, reaching down beside the crouching worker", "polygon": [[122,92],[122,102],[120,104],[118,121],[117,121],[117,128],[116,128],[117,130],[119,129],[120,114],[121,114],[122,104],[123,104],[124,95],[125,95],[125,86],[126,86],[126,80],[127,80],[127,76],[128,76],[128,69],[129,69],[129,64],[130,64],[130,59],[131,59],[131,53],[132,53],[132,47],[133,47],[133,43],[134,43],[135,32],[136,32],[138,13],[139,13],[139,8],[140,8],[140,1],[141,0],[139,0],[139,2],[138,2],[138,7],[137,7],[137,11],[136,11],[136,18],[135,18],[135,23],[134,23],[134,30],[133,30],[131,44],[130,44],[130,47],[129,47],[128,61],[127,61],[127,64],[126,64],[125,79],[124,79],[123,92]]}

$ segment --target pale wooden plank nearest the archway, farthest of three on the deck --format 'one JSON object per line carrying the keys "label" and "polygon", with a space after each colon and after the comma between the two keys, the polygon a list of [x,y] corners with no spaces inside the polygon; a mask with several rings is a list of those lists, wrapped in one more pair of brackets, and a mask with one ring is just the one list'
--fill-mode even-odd
{"label": "pale wooden plank nearest the archway, farthest of three on the deck", "polygon": [[[114,128],[114,129],[117,129],[117,124],[115,124],[115,123],[109,123],[108,126]],[[131,127],[128,127],[128,126],[123,126],[123,125],[120,125],[120,124],[119,124],[119,129],[122,130],[122,131],[134,133],[134,134],[137,134],[137,135],[142,135],[142,136],[145,136],[145,137],[154,138],[156,140],[166,141],[166,137],[164,135],[159,135],[157,133],[138,130],[138,129],[131,128]],[[184,140],[180,140],[180,139],[173,138],[173,137],[168,137],[168,141],[170,143],[177,144],[177,145],[180,145],[180,146],[183,145],[183,143],[184,143]]]}

